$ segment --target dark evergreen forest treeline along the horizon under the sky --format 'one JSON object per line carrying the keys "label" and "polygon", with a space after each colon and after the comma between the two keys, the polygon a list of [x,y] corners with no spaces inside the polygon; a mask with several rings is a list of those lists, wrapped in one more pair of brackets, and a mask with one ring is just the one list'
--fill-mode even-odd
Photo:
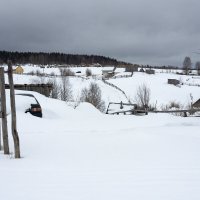
{"label": "dark evergreen forest treeline along the horizon under the sky", "polygon": [[44,53],[44,52],[9,52],[0,51],[0,64],[12,60],[13,64],[36,64],[36,65],[91,65],[99,63],[102,66],[127,66],[130,63],[117,61],[116,59],[97,55],[74,55],[64,53]]}

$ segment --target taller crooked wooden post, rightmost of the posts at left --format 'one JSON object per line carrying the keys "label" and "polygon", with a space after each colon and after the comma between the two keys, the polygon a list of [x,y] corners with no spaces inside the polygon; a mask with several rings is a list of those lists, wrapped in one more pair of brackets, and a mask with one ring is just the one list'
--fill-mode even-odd
{"label": "taller crooked wooden post, rightmost of the posts at left", "polygon": [[10,85],[10,106],[11,106],[11,116],[12,116],[12,136],[14,140],[15,148],[15,158],[20,158],[20,145],[19,136],[17,133],[17,118],[16,118],[16,108],[15,108],[15,93],[13,84],[13,70],[12,62],[8,61],[8,80]]}

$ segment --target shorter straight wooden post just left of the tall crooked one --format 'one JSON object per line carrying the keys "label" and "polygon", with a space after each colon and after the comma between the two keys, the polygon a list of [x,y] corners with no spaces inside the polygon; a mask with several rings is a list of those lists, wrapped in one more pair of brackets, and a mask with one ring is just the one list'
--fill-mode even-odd
{"label": "shorter straight wooden post just left of the tall crooked one", "polygon": [[4,154],[9,154],[4,68],[0,67],[0,97]]}

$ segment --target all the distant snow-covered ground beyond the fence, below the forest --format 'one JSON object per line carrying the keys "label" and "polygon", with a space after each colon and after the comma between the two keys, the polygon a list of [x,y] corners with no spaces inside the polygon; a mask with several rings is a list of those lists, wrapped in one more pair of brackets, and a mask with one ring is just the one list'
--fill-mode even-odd
{"label": "all the distant snow-covered ground beyond the fence, below the forest", "polygon": [[[26,69],[27,68],[27,69]],[[29,72],[31,69],[35,69],[39,67],[31,67],[25,66],[24,69],[28,70]],[[107,67],[109,68],[109,67]],[[77,71],[84,71],[87,68],[77,68],[73,67],[70,68],[71,70]],[[91,67],[90,68],[93,74],[97,76],[101,76],[102,68],[101,67]],[[59,75],[58,68],[45,68],[45,70],[53,70],[56,75]],[[108,105],[109,102],[127,102],[131,100],[132,103],[135,103],[135,94],[138,89],[138,86],[142,84],[146,84],[149,89],[151,90],[151,98],[150,103],[152,106],[157,106],[158,109],[160,107],[169,104],[170,101],[175,101],[177,103],[182,104],[183,107],[188,106],[191,102],[195,102],[200,98],[200,77],[199,76],[184,76],[184,75],[177,75],[175,73],[159,73],[159,71],[155,75],[149,75],[146,73],[134,72],[132,77],[129,78],[117,78],[121,76],[130,75],[129,72],[123,72],[122,69],[117,69],[118,74],[115,76],[116,78],[110,79],[109,82],[118,86],[122,89],[125,95],[116,90],[115,88],[104,84],[99,78],[85,78],[85,72],[82,74],[82,78],[80,77],[70,77],[70,83],[72,85],[73,90],[73,97],[74,99],[78,99],[81,94],[81,90],[85,87],[88,87],[91,82],[96,82],[101,90],[102,90],[102,98]],[[50,74],[52,71],[49,71],[47,74]],[[57,81],[60,82],[61,78],[56,77]],[[183,85],[174,86],[169,85],[167,83],[168,79],[177,79]],[[28,83],[45,83],[49,80],[52,80],[51,77],[38,77],[38,76],[31,76],[31,75],[14,75],[14,82],[16,84],[28,84]],[[6,77],[6,82],[8,82]],[[192,99],[191,99],[192,97]]]}

